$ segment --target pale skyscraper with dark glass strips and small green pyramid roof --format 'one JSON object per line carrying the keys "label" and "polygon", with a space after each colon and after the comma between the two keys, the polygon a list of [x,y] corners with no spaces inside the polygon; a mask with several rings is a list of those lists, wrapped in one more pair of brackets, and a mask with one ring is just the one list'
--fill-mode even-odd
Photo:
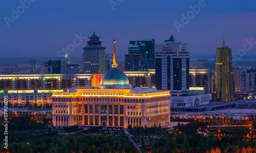
{"label": "pale skyscraper with dark glass strips and small green pyramid roof", "polygon": [[189,92],[189,46],[173,35],[156,44],[156,87],[177,96]]}

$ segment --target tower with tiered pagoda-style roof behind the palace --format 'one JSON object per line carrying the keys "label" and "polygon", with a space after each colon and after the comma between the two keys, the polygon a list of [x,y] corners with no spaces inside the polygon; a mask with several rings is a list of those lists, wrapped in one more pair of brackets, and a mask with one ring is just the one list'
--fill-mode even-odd
{"label": "tower with tiered pagoda-style roof behind the palace", "polygon": [[95,32],[90,40],[87,41],[88,45],[83,48],[83,64],[85,74],[105,73],[105,47],[101,45]]}

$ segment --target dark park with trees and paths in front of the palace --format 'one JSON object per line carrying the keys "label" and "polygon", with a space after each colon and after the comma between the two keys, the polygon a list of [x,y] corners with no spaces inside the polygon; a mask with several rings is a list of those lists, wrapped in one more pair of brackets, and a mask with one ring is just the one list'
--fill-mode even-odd
{"label": "dark park with trees and paths in front of the palace", "polygon": [[[56,128],[49,113],[9,112],[8,119],[9,146],[8,150],[0,147],[0,152],[139,152],[123,129]],[[128,132],[142,152],[256,152],[254,116],[242,121],[224,117],[170,119],[186,124],[178,123],[173,129],[129,125]],[[0,120],[4,121],[3,116]],[[222,126],[210,126],[214,123]],[[227,126],[230,124],[236,126]],[[0,136],[4,137],[3,129]]]}

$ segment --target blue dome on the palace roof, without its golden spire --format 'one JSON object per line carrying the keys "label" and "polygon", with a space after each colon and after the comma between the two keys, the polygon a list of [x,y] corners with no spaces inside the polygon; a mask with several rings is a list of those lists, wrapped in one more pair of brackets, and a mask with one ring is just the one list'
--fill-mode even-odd
{"label": "blue dome on the palace roof, without its golden spire", "polygon": [[100,81],[100,85],[125,87],[125,85],[129,85],[129,80],[124,72],[114,68],[105,72]]}

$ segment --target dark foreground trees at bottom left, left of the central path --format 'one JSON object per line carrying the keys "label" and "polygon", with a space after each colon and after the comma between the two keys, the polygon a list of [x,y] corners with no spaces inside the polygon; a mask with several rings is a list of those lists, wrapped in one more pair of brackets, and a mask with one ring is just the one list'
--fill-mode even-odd
{"label": "dark foreground trees at bottom left, left of the central path", "polygon": [[[10,152],[139,152],[125,136],[65,135],[25,145],[8,146]],[[1,151],[6,149],[1,148]]]}

